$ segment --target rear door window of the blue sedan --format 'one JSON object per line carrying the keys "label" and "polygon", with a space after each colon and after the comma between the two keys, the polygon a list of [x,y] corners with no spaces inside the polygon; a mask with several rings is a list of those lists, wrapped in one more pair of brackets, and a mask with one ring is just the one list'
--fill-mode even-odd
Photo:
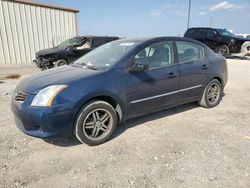
{"label": "rear door window of the blue sedan", "polygon": [[199,61],[205,59],[205,50],[198,44],[189,42],[176,42],[179,63]]}

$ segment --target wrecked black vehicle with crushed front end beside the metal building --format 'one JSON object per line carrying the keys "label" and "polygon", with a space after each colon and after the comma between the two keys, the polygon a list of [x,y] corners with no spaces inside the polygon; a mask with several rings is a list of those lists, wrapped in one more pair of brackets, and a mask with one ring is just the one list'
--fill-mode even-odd
{"label": "wrecked black vehicle with crushed front end beside the metal building", "polygon": [[38,51],[33,62],[41,70],[67,65],[94,48],[117,39],[119,38],[108,36],[77,36],[64,41],[54,48]]}

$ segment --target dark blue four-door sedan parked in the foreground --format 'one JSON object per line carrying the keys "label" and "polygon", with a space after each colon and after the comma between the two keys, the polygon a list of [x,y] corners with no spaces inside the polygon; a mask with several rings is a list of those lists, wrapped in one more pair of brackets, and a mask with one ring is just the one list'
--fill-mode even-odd
{"label": "dark blue four-door sedan parked in the foreground", "polygon": [[62,66],[31,75],[16,87],[12,111],[24,133],[74,133],[89,145],[107,141],[117,123],[197,101],[218,105],[227,64],[187,38],[122,39]]}

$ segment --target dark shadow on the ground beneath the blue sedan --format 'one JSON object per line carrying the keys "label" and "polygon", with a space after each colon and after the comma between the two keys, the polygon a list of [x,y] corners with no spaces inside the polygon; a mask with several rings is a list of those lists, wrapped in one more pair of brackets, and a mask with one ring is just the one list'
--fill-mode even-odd
{"label": "dark shadow on the ground beneath the blue sedan", "polygon": [[[111,139],[115,139],[119,135],[123,134],[126,130],[133,128],[135,126],[141,125],[145,122],[161,119],[161,118],[173,115],[173,114],[182,113],[182,112],[185,112],[193,108],[197,108],[197,107],[199,107],[198,104],[194,102],[194,103],[185,104],[179,107],[170,108],[168,110],[163,110],[163,111],[159,111],[156,113],[152,113],[146,116],[134,118],[132,120],[129,120],[125,123],[120,124],[115,130],[115,132],[113,133],[113,136],[111,137]],[[81,144],[73,135],[67,136],[67,137],[64,136],[64,137],[47,138],[43,140],[49,144],[53,144],[53,145],[57,145],[61,147],[71,147],[71,146]]]}

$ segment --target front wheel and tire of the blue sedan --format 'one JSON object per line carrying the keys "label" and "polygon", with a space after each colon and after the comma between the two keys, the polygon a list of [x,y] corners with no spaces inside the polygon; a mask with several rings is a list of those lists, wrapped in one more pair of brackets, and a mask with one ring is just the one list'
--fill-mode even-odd
{"label": "front wheel and tire of the blue sedan", "polygon": [[81,143],[99,145],[106,142],[117,126],[114,108],[105,101],[91,101],[76,118],[74,134]]}

